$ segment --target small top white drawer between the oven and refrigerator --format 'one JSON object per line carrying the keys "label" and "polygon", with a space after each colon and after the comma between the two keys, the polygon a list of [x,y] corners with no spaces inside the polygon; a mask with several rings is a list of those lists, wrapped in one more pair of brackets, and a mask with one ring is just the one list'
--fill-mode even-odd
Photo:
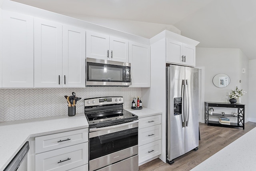
{"label": "small top white drawer between the oven and refrigerator", "polygon": [[161,115],[139,118],[139,129],[161,124]]}

